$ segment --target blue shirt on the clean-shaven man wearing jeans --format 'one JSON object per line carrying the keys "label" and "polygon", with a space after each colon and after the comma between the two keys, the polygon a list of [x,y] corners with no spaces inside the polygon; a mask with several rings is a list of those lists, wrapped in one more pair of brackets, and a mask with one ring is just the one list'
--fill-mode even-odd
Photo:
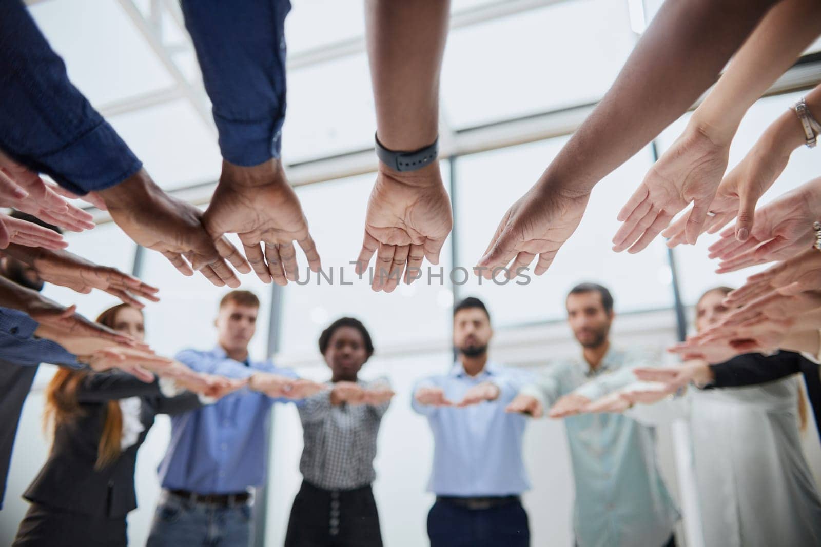
{"label": "blue shirt on the clean-shaven man wearing jeans", "polygon": [[[290,369],[274,367],[269,361],[236,362],[220,347],[186,349],[176,358],[195,371],[230,378],[247,378],[255,372],[296,377]],[[243,388],[216,403],[172,417],[171,442],[158,469],[163,488],[232,494],[264,484],[268,410],[273,403],[286,400]]]}

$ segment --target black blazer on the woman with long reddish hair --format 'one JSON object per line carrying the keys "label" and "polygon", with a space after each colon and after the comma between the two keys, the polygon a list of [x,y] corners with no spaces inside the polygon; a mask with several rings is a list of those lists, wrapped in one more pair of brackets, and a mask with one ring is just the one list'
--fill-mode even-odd
{"label": "black blazer on the woman with long reddish hair", "polygon": [[[140,421],[145,427],[136,444],[113,463],[96,469],[97,449],[108,415],[108,401],[139,396]],[[157,414],[185,413],[200,407],[196,394],[165,398],[157,381],[146,384],[121,372],[89,374],[77,390],[83,414],[57,426],[43,469],[23,497],[46,507],[95,517],[125,517],[137,507],[134,467],[137,449]]]}

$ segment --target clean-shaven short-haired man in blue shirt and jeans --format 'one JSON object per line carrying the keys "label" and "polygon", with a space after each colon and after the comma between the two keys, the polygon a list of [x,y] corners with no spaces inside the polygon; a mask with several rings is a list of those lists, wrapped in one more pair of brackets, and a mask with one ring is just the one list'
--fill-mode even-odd
{"label": "clean-shaven short-haired man in blue shirt and jeans", "polygon": [[259,299],[245,290],[225,295],[216,321],[218,345],[186,349],[177,360],[195,371],[248,381],[248,388],[172,417],[171,443],[159,466],[163,495],[149,547],[248,545],[250,489],[265,481],[269,410],[323,389],[269,361],[251,361]]}

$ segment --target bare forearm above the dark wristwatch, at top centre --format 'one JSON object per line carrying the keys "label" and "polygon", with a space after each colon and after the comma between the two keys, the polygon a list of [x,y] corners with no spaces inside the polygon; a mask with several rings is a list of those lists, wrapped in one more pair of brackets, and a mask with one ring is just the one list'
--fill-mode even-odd
{"label": "bare forearm above the dark wristwatch, at top centre", "polygon": [[438,134],[448,0],[368,0],[368,57],[379,141],[415,150]]}

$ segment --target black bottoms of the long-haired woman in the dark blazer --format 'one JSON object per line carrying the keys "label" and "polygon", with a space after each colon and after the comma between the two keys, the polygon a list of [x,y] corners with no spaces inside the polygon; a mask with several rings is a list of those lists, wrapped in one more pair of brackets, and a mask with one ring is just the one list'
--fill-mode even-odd
{"label": "black bottoms of the long-haired woman in the dark blazer", "polygon": [[126,517],[95,517],[31,504],[13,547],[125,547]]}

